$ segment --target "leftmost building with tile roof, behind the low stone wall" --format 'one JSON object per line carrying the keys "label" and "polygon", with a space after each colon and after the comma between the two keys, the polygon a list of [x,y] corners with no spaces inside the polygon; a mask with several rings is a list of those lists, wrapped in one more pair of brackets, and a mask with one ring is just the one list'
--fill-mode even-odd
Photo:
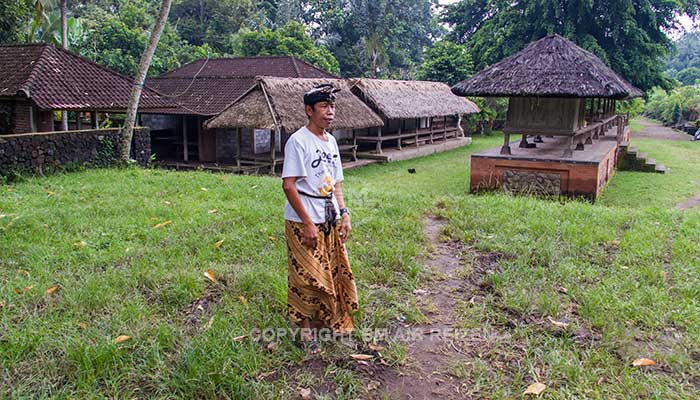
{"label": "leftmost building with tile roof, behind the low stone wall", "polygon": [[[0,135],[98,128],[104,113],[124,113],[133,79],[50,44],[0,46]],[[139,112],[172,103],[145,88]],[[59,117],[60,118],[60,117]]]}

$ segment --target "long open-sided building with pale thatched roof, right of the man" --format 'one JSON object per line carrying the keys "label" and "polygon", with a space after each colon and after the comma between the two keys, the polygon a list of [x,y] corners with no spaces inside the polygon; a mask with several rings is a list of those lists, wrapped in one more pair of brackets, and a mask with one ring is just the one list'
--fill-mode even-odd
{"label": "long open-sided building with pale thatched roof, right of the man", "polygon": [[461,116],[479,112],[471,101],[455,96],[444,83],[388,79],[351,79],[352,92],[384,121],[357,131],[358,146],[382,153],[388,144],[401,149],[463,137]]}

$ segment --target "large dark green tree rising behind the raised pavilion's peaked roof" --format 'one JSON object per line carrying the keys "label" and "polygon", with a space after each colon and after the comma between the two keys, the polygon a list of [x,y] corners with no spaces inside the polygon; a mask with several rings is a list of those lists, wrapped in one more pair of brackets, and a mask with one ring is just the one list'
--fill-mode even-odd
{"label": "large dark green tree rising behind the raised pavilion's peaked roof", "polygon": [[677,15],[695,16],[698,0],[462,0],[447,6],[451,38],[467,45],[477,69],[558,33],[595,53],[641,89],[668,86],[666,32]]}

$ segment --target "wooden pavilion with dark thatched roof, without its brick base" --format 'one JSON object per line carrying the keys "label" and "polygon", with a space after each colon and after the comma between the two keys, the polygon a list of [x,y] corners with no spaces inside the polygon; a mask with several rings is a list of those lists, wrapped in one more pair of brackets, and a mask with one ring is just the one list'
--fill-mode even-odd
{"label": "wooden pavilion with dark thatched roof, without its brick base", "polygon": [[501,154],[511,154],[510,134],[523,135],[520,147],[536,146],[528,143],[528,135],[536,142],[543,135],[565,136],[565,158],[572,156],[574,141],[576,150],[584,150],[605,134],[604,126],[626,124],[615,113],[616,100],[643,95],[593,53],[559,35],[530,43],[456,84],[452,92],[509,98]]}

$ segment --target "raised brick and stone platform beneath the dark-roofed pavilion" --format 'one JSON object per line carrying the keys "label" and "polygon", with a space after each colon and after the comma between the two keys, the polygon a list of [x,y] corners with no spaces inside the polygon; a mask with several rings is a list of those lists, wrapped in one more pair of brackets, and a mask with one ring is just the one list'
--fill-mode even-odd
{"label": "raised brick and stone platform beneath the dark-roofed pavilion", "polygon": [[[628,133],[626,132],[626,135]],[[601,137],[565,158],[567,138],[543,138],[536,148],[511,143],[511,155],[500,147],[471,157],[472,192],[502,189],[508,192],[585,197],[595,200],[612,177],[617,165],[615,135]]]}

